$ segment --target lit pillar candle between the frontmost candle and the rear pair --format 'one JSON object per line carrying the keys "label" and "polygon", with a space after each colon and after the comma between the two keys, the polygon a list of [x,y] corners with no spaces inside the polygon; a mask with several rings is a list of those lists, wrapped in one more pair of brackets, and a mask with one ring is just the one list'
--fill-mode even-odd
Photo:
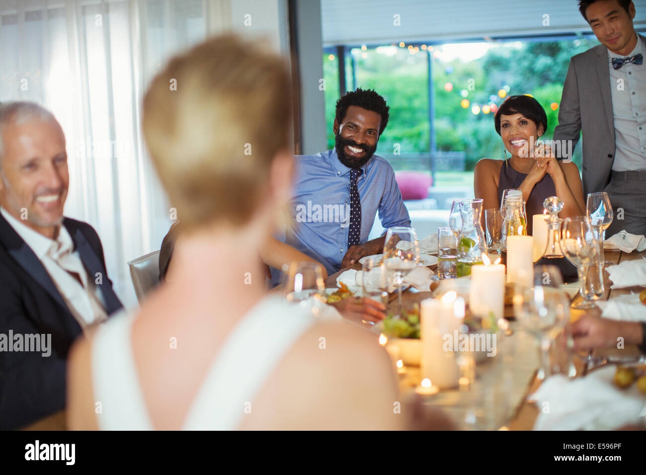
{"label": "lit pillar candle between the frontmost candle and the rear pair", "polygon": [[488,317],[493,312],[498,321],[505,309],[505,266],[500,264],[500,258],[491,264],[485,253],[483,264],[471,268],[469,306],[476,317]]}

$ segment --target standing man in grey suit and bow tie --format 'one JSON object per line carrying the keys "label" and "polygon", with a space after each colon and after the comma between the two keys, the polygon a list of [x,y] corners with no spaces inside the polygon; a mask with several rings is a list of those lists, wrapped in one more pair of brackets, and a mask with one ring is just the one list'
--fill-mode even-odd
{"label": "standing man in grey suit and bow tie", "polygon": [[646,38],[630,0],[579,0],[579,11],[601,45],[570,60],[554,140],[572,150],[583,132],[583,193],[606,191],[614,209],[606,236],[646,235]]}

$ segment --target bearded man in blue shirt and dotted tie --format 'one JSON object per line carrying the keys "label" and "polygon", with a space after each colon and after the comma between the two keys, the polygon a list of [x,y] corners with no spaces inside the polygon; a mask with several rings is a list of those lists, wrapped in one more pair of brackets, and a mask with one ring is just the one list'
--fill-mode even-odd
{"label": "bearded man in blue shirt and dotted tie", "polygon": [[374,154],[389,109],[374,90],[348,92],[337,101],[334,149],[295,156],[286,242],[329,274],[383,252],[385,235],[368,240],[377,212],[386,229],[410,226],[393,168]]}

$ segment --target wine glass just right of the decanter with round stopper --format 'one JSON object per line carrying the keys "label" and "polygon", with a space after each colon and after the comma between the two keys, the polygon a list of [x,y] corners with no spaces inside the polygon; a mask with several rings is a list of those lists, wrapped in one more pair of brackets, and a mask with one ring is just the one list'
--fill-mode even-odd
{"label": "wine glass just right of the decanter with round stopper", "polygon": [[576,266],[583,301],[572,308],[592,308],[603,296],[600,242],[596,227],[587,216],[565,218],[561,223],[561,251]]}

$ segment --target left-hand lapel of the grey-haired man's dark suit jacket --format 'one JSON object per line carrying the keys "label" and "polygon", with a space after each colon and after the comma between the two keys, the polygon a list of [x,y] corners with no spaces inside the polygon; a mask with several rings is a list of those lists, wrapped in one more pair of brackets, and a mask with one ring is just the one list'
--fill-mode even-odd
{"label": "left-hand lapel of the grey-haired man's dark suit jacket", "polygon": [[2,215],[0,215],[0,241],[5,245],[9,255],[72,317],[43,263]]}

